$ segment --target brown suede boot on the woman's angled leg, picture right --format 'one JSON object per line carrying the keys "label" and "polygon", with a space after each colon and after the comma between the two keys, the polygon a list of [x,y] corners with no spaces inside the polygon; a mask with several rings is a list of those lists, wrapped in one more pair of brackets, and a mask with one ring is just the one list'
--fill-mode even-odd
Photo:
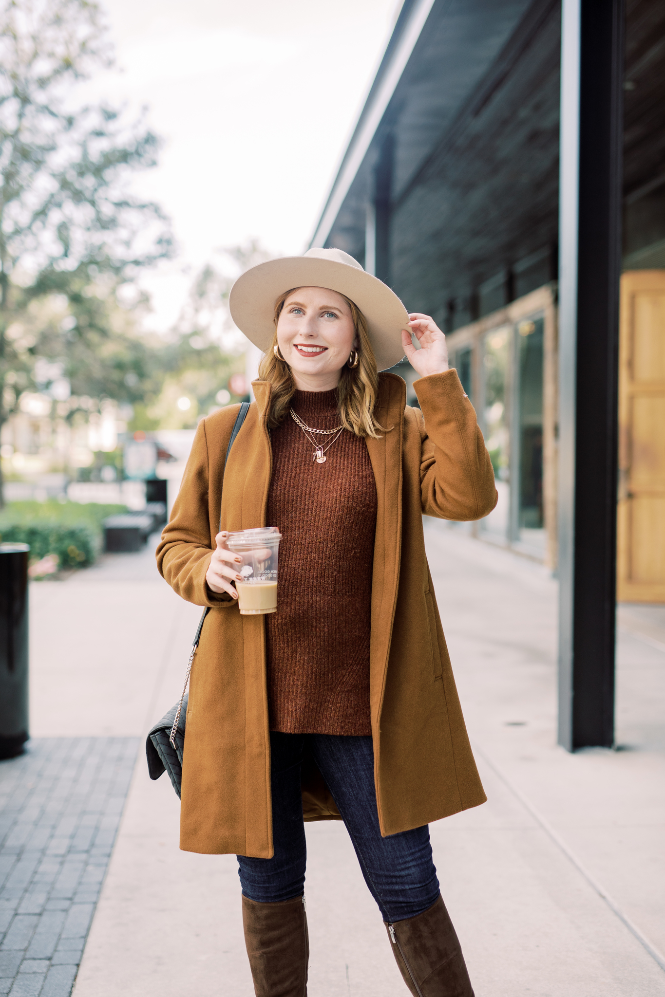
{"label": "brown suede boot on the woman's angled leg, picture right", "polygon": [[414,997],[474,997],[441,893],[424,913],[384,924],[404,982]]}

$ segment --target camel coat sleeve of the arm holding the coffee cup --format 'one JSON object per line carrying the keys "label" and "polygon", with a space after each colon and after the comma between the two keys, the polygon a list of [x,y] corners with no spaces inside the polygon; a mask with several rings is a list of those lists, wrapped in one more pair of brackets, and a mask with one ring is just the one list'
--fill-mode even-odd
{"label": "camel coat sleeve of the arm holding the coffee cup", "polygon": [[170,520],[157,548],[157,563],[162,577],[187,602],[196,606],[234,605],[229,595],[215,595],[205,582],[214,544],[214,536],[210,535],[207,488],[207,441],[205,420],[201,419]]}

